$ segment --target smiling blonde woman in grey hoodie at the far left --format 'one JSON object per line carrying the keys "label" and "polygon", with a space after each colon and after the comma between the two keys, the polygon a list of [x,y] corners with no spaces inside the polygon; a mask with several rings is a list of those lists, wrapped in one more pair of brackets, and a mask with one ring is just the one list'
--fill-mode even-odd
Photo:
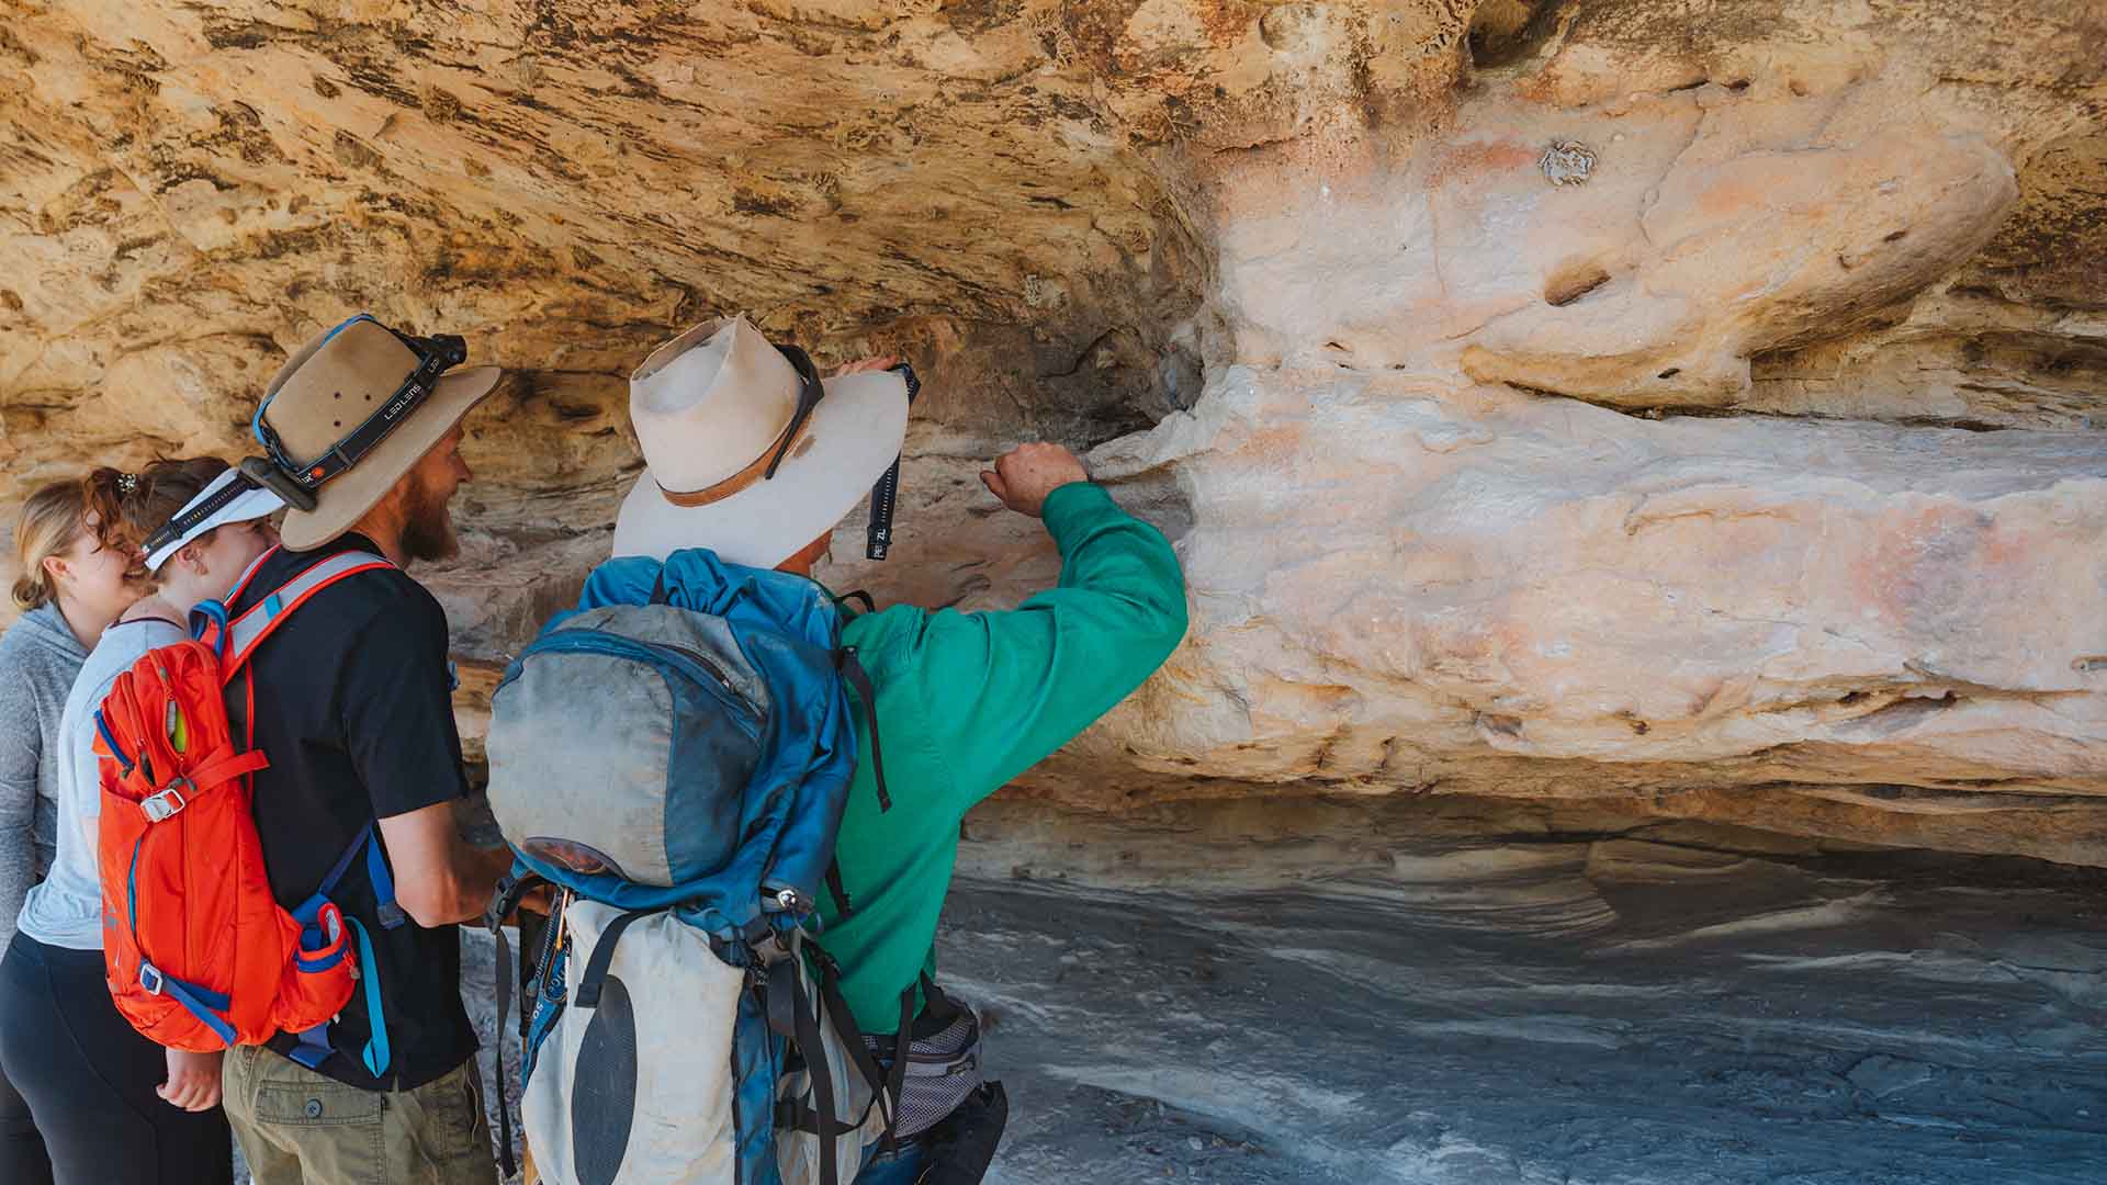
{"label": "smiling blonde woman in grey hoodie at the far left", "polygon": [[[0,936],[13,940],[29,886],[57,852],[59,717],[88,649],[143,586],[133,557],[105,548],[86,485],[32,493],[15,525],[21,618],[0,635]],[[51,1162],[29,1107],[0,1075],[0,1181],[46,1185]]]}

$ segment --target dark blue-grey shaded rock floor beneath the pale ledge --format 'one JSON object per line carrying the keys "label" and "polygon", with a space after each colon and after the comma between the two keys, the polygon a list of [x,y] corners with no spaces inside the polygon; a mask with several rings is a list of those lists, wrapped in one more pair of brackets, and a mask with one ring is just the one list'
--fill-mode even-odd
{"label": "dark blue-grey shaded rock floor beneath the pale ledge", "polygon": [[2099,1179],[2099,871],[1279,810],[976,816],[940,959],[992,1183]]}

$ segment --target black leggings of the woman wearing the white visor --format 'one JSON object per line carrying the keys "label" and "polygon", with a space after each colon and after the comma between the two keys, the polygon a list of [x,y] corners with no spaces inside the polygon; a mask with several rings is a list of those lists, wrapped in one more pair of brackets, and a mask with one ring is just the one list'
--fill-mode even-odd
{"label": "black leggings of the woman wearing the white visor", "polygon": [[154,1094],[166,1056],[110,1004],[101,951],[15,934],[0,959],[0,1067],[29,1101],[57,1185],[234,1179],[225,1113]]}

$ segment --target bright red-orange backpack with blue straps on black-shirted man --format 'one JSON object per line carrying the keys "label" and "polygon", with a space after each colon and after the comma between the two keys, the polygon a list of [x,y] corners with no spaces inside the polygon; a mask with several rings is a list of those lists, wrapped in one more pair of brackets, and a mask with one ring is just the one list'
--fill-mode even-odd
{"label": "bright red-orange backpack with blue straps on black-shirted man", "polygon": [[[365,978],[373,1014],[367,1069],[388,1069],[373,945],[329,900],[362,854],[383,924],[400,926],[386,856],[367,824],[314,896],[291,913],[278,905],[251,816],[251,774],[270,761],[251,749],[255,679],[242,679],[255,647],[301,601],[375,567],[392,565],[365,552],[331,555],[232,622],[221,603],[206,601],[192,614],[200,637],[141,656],[95,713],[103,964],[118,1012],[160,1046],[204,1052],[287,1031],[301,1035],[295,1061],[316,1067],[331,1052],[331,1016]],[[249,721],[240,738],[230,698]]]}

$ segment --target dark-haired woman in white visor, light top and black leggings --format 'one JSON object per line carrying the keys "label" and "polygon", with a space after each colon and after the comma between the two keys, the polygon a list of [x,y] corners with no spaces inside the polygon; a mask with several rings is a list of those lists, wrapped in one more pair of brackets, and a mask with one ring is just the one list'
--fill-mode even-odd
{"label": "dark-haired woman in white visor, light top and black leggings", "polygon": [[282,502],[219,458],[103,468],[86,489],[103,546],[133,557],[145,597],[103,630],[65,702],[57,858],[0,961],[0,1065],[29,1101],[55,1185],[228,1185],[221,1054],[145,1040],[103,983],[95,708],[145,652],[190,637],[196,603],[225,597],[276,546]]}

